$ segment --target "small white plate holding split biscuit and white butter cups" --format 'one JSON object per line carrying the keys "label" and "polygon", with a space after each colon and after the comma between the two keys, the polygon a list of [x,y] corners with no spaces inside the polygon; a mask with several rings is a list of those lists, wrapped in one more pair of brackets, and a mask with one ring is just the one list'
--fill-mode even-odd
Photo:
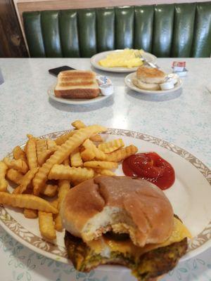
{"label": "small white plate holding split biscuit and white butter cups", "polygon": [[141,66],[124,78],[124,83],[139,93],[171,93],[181,89],[183,81],[177,74],[167,74],[155,67]]}

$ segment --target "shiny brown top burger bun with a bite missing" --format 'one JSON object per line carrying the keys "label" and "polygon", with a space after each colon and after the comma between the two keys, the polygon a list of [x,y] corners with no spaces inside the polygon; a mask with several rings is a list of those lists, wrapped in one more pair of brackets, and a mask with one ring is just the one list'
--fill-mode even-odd
{"label": "shiny brown top burger bun with a bite missing", "polygon": [[141,178],[98,176],[70,189],[60,215],[65,229],[84,242],[108,231],[128,233],[139,247],[172,234],[174,213],[156,185]]}

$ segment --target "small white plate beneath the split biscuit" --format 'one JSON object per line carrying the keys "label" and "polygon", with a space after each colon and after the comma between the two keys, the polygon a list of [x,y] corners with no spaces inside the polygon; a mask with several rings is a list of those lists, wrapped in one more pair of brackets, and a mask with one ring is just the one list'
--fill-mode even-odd
{"label": "small white plate beneath the split biscuit", "polygon": [[177,84],[174,85],[174,89],[170,89],[170,90],[158,90],[158,91],[148,91],[148,90],[143,90],[143,89],[139,89],[138,87],[136,87],[133,83],[133,79],[134,77],[136,77],[136,72],[130,73],[128,74],[125,78],[124,78],[124,83],[129,87],[129,89],[132,89],[136,92],[139,93],[153,93],[156,95],[160,95],[161,93],[172,93],[174,91],[177,91],[181,88],[182,84],[183,84],[183,80],[182,79],[178,79]]}

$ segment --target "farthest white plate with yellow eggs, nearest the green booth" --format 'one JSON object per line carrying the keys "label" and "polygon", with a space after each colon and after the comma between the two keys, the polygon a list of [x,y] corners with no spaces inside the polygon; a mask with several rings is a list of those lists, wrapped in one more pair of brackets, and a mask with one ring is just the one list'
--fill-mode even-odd
{"label": "farthest white plate with yellow eggs, nearest the green booth", "polygon": [[[137,50],[126,48],[124,50],[106,51],[97,53],[91,57],[91,65],[98,70],[109,72],[134,72],[137,68],[143,65],[140,58],[136,58]],[[139,50],[143,58],[146,58],[151,63],[155,63],[156,57],[151,53],[146,53]]]}

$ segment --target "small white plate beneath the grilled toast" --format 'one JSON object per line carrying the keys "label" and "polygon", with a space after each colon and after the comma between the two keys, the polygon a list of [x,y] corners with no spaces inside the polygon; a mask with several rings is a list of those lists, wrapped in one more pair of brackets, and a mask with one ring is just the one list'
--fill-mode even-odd
{"label": "small white plate beneath the grilled toast", "polygon": [[49,90],[48,90],[48,94],[49,94],[49,98],[51,98],[52,100],[56,100],[58,101],[58,103],[66,103],[68,105],[88,105],[90,103],[97,103],[98,101],[102,101],[102,100],[106,100],[106,98],[108,98],[109,96],[103,96],[100,94],[100,96],[96,97],[96,98],[57,98],[54,94],[54,88],[55,88],[56,84],[53,84],[52,86],[50,86]]}

